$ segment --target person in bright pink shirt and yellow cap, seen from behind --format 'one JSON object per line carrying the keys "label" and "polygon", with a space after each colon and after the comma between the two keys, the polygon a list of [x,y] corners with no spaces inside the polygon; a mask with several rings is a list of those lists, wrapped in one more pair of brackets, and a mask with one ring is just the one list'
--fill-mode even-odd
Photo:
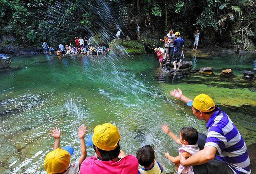
{"label": "person in bright pink shirt and yellow cap, seen from behind", "polygon": [[82,162],[80,174],[138,174],[138,160],[120,150],[120,138],[111,123],[96,126],[88,142],[97,155]]}

